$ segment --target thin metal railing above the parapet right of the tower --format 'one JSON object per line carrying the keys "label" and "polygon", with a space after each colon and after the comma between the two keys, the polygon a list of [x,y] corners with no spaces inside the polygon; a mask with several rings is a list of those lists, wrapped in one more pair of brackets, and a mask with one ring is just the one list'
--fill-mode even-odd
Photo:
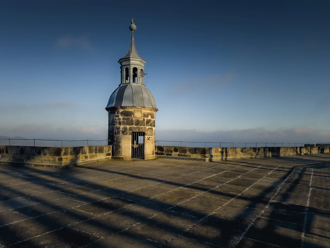
{"label": "thin metal railing above the parapet right of the tower", "polygon": [[[265,147],[270,147],[270,146],[272,146],[272,147],[275,147],[276,145],[278,145],[278,144],[280,144],[279,146],[283,146],[283,144],[284,144],[284,146],[285,145],[288,145],[289,147],[291,147],[291,146],[297,146],[297,144],[298,145],[301,145],[301,146],[303,146],[303,144],[305,145],[311,145],[311,144],[315,144],[315,143],[287,143],[287,142],[281,142],[281,143],[278,143],[278,142],[249,142],[249,143],[240,143],[240,142],[193,142],[193,141],[164,141],[164,140],[156,140],[155,141],[155,145],[159,145],[159,142],[175,142],[175,143],[178,143],[178,145],[179,145],[179,143],[180,143],[180,146],[182,146],[182,143],[196,143],[196,144],[200,144],[200,143],[202,143],[202,144],[204,144],[204,147],[206,147],[206,144],[219,144],[219,146],[218,147],[221,147],[221,144],[232,144],[232,146],[230,145],[230,147],[235,147],[235,145],[234,144],[241,144],[242,146],[236,146],[236,147],[247,147],[247,144],[253,144],[253,147],[254,147],[254,144],[255,144],[255,147],[261,147],[261,146],[263,146],[263,145],[265,145]],[[260,146],[258,146],[258,144],[262,144],[262,145],[260,145]],[[252,145],[251,145],[252,146]],[[250,146],[250,147],[251,147]],[[317,146],[317,144],[316,144],[316,146]],[[229,147],[229,146],[222,146],[222,147]]]}

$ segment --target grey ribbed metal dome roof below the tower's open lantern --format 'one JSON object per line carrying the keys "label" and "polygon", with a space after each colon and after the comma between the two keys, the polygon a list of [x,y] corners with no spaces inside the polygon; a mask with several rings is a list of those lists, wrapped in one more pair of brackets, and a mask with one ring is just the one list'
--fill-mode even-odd
{"label": "grey ribbed metal dome roof below the tower's open lantern", "polygon": [[139,106],[156,108],[155,99],[143,84],[120,84],[111,94],[106,109],[119,106]]}

